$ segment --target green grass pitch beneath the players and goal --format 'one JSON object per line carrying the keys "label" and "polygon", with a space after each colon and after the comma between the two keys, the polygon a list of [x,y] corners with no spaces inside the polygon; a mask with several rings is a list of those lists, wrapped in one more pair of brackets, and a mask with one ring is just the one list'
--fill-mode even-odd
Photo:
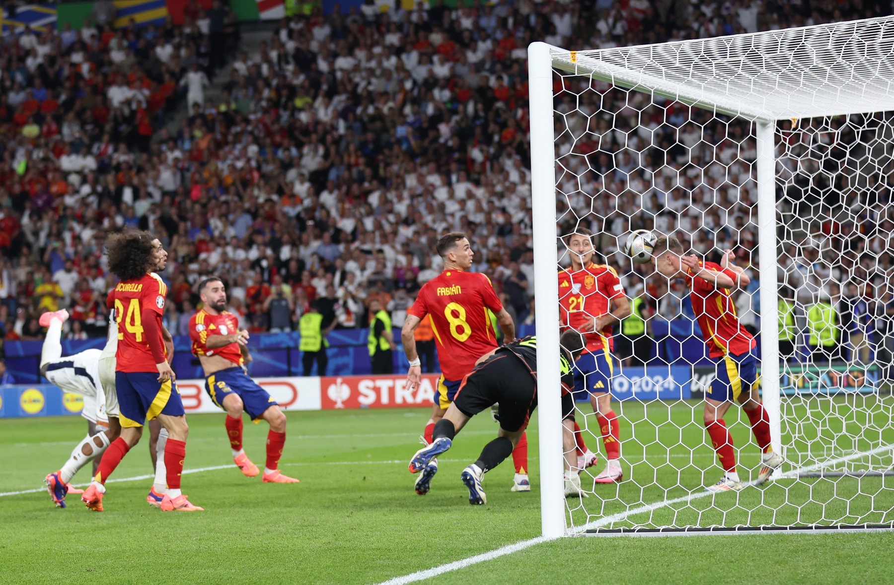
{"label": "green grass pitch beneath the players and goal", "polygon": [[[622,421],[636,423],[637,440],[624,442],[625,459],[633,464],[627,469],[632,481],[598,488],[601,498],[588,498],[586,513],[575,511],[574,522],[598,521],[641,502],[685,495],[698,489],[703,478],[715,481],[720,468],[704,445],[703,431],[691,424],[668,424],[691,422],[695,405],[621,405]],[[539,535],[536,422],[530,429],[534,490],[510,492],[513,470],[508,460],[486,476],[488,504],[468,506],[460,471],[477,458],[496,425],[486,415],[469,422],[455,447],[440,459],[432,491],[418,497],[407,462],[418,447],[416,438],[428,412],[289,413],[283,471],[301,483],[262,484],[260,477],[245,478],[235,467],[186,474],[183,489],[194,503],[207,508],[204,513],[162,514],[150,508],[145,501],[150,480],[110,482],[103,514],[81,507],[77,496],[69,497],[64,510],[53,506],[46,491],[0,497],[0,582],[376,583]],[[730,421],[738,421],[738,415],[728,415]],[[730,424],[737,444],[744,446],[746,426],[740,421]],[[43,477],[63,463],[86,426],[80,417],[0,423],[0,492],[41,487]],[[840,435],[834,424],[817,432]],[[245,434],[249,456],[263,464],[266,425],[247,424]],[[601,441],[587,442],[601,450]],[[688,456],[666,456],[690,452],[691,461]],[[757,457],[756,447],[743,448],[743,464],[749,457]],[[232,458],[223,414],[190,415],[186,469],[227,464]],[[150,472],[148,447],[141,443],[113,479]],[[85,470],[74,481],[88,480]],[[654,481],[669,489],[649,486]],[[890,479],[872,481],[861,484],[864,493],[874,490],[871,504],[871,498],[848,492],[855,491],[854,480],[839,481],[837,489],[831,482],[814,481],[800,490],[789,482],[698,499],[680,511],[662,508],[653,518],[690,522],[697,520],[698,510],[708,510],[701,514],[703,521],[714,522],[725,514],[727,523],[759,523],[775,514],[777,522],[797,522],[795,506],[774,504],[774,493],[780,497],[789,490],[789,500],[812,491],[814,500],[828,503],[830,514],[864,517],[877,509],[873,520],[890,522]],[[764,505],[749,515],[762,500]],[[821,508],[800,509],[805,515]],[[645,516],[615,525],[641,524]],[[891,547],[892,533],[560,539],[431,582],[885,582],[894,574]]]}

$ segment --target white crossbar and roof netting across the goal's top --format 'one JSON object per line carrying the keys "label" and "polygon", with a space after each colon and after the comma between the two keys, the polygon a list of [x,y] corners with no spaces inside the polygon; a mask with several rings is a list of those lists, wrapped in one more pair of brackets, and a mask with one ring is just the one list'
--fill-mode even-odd
{"label": "white crossbar and roof netting across the goal's top", "polygon": [[894,109],[894,16],[551,54],[561,71],[748,120]]}

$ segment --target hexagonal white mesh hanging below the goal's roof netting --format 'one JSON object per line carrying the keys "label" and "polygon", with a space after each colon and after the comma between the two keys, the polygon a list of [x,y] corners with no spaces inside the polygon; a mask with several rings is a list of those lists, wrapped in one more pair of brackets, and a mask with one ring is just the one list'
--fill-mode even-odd
{"label": "hexagonal white mesh hanging below the goal's roof netting", "polygon": [[[563,422],[570,533],[890,526],[892,116],[769,122],[759,178],[762,118],[568,55],[552,71],[558,290],[561,331],[586,343]],[[778,92],[798,75],[772,71]],[[627,254],[634,230],[659,238],[649,263]]]}

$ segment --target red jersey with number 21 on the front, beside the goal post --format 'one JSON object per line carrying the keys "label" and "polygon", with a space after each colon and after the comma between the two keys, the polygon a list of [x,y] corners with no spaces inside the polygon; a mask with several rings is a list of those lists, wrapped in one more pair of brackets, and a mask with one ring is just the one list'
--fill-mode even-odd
{"label": "red jersey with number 21 on the front, beside the goal post", "polygon": [[611,325],[593,331],[593,318],[609,313],[611,299],[624,296],[618,272],[605,264],[591,263],[583,270],[559,272],[559,317],[562,329],[574,328],[584,334],[590,352],[614,349]]}

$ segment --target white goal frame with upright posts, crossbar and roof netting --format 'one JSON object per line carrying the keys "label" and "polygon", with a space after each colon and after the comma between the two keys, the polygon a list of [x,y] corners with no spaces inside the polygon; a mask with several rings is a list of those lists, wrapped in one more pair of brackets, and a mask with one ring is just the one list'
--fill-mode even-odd
{"label": "white goal frame with upright posts, crossbar and roof netting", "polygon": [[[780,372],[777,309],[778,251],[785,244],[777,241],[780,230],[777,188],[782,180],[777,170],[780,124],[789,121],[794,126],[807,119],[828,120],[835,116],[894,111],[894,17],[604,50],[572,51],[536,42],[528,47],[528,73],[536,334],[541,349],[537,355],[537,371],[542,529],[544,537],[559,537],[579,533],[581,526],[575,527],[575,522],[571,522],[569,528],[562,479],[559,354],[550,350],[559,347],[560,335],[559,287],[555,273],[557,249],[561,250],[562,246],[557,206],[557,165],[561,163],[557,156],[556,128],[564,122],[557,113],[553,92],[557,79],[566,75],[569,79],[589,79],[594,84],[623,88],[631,94],[641,92],[651,104],[656,101],[686,104],[712,116],[725,116],[724,120],[738,119],[752,124],[756,146],[753,177],[759,233],[762,397],[771,420],[773,449],[785,453],[787,446],[780,430],[785,416],[780,408],[783,396],[780,380],[784,372]],[[865,150],[868,153],[871,147]],[[886,164],[878,161],[880,176],[888,171]],[[865,182],[864,177],[860,180]],[[613,235],[620,237],[621,234]],[[890,405],[886,403],[883,408]],[[882,430],[879,434],[890,437],[886,432]],[[884,452],[882,447],[880,452]],[[809,471],[808,467],[802,468]],[[623,482],[618,484],[619,493],[624,486]],[[883,487],[890,489],[891,485]],[[889,497],[892,493],[887,492]],[[672,507],[674,501],[668,499],[671,495],[665,498],[663,502],[659,500],[660,505]],[[761,501],[763,504],[764,500]],[[628,502],[628,512],[647,510],[653,504],[645,500],[637,503],[641,506],[633,508]],[[870,507],[876,510],[878,506],[873,500]],[[586,518],[598,518],[606,510],[586,512]],[[882,514],[885,521],[890,522],[890,510],[881,512],[885,513]],[[821,515],[817,520],[836,523],[835,518],[826,518],[825,512]],[[810,522],[809,518],[802,517],[800,509],[797,517],[799,523]],[[753,525],[736,519],[730,522],[738,526]],[[785,525],[784,521],[781,523]],[[756,524],[767,526],[776,522]],[[711,525],[716,526],[717,522]],[[666,528],[679,526],[674,523]]]}

